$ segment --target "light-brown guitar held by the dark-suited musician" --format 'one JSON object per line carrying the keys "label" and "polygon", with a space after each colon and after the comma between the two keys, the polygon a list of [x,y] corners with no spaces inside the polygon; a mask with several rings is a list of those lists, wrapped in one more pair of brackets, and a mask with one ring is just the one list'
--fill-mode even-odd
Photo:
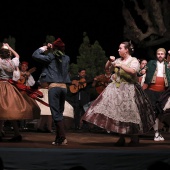
{"label": "light-brown guitar held by the dark-suited musician", "polygon": [[85,88],[87,85],[86,79],[81,78],[80,80],[73,80],[70,85],[70,92],[77,93],[80,89]]}

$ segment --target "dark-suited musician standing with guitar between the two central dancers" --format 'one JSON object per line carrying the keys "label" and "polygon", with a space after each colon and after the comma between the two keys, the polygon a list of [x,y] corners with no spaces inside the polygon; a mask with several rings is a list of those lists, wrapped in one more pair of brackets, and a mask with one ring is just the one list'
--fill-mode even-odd
{"label": "dark-suited musician standing with guitar between the two central dancers", "polygon": [[81,130],[81,128],[86,128],[86,125],[80,125],[80,120],[85,112],[83,106],[90,102],[91,81],[86,75],[86,69],[84,68],[79,69],[78,75],[71,78],[71,80],[72,82],[76,80],[77,83],[75,86],[80,87],[76,93],[72,93],[72,99],[74,108],[74,128],[75,130]]}

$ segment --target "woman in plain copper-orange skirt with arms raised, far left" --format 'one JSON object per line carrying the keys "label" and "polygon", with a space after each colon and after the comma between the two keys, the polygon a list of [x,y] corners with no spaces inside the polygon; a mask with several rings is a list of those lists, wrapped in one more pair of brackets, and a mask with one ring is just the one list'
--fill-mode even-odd
{"label": "woman in plain copper-orange skirt with arms raised, far left", "polygon": [[22,141],[17,120],[39,118],[40,115],[40,108],[36,102],[27,94],[21,94],[11,84],[10,79],[13,79],[13,72],[18,66],[18,53],[7,43],[3,43],[0,49],[0,131],[2,131],[4,120],[12,121],[14,137],[9,140],[10,142]]}

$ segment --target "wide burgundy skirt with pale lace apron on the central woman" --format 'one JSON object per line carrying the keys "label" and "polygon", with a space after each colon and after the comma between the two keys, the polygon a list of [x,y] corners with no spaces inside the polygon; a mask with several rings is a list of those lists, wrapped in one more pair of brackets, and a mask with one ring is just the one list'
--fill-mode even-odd
{"label": "wide burgundy skirt with pale lace apron on the central woman", "polygon": [[117,88],[110,83],[82,120],[120,134],[143,134],[154,125],[155,114],[139,84],[121,83]]}

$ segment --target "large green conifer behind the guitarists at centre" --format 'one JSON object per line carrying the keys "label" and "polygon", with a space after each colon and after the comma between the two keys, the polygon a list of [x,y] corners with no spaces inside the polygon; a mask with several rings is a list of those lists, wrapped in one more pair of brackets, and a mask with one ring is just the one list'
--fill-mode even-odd
{"label": "large green conifer behind the guitarists at centre", "polygon": [[85,68],[89,77],[94,78],[96,75],[104,73],[107,57],[98,41],[90,44],[90,40],[86,33],[83,33],[83,43],[79,48],[79,56],[77,56],[77,64],[70,65],[71,75],[76,75],[80,68]]}

